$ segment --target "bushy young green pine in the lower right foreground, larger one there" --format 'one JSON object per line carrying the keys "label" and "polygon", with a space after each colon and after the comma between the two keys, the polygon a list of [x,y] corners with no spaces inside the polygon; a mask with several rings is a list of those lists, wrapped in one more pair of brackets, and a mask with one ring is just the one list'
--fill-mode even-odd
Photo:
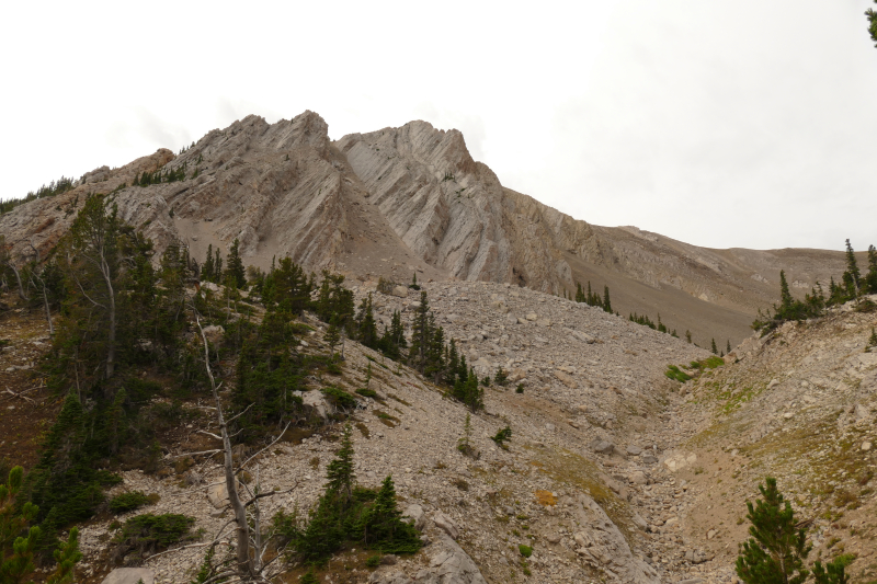
{"label": "bushy young green pine in the lower right foreground, larger one there", "polygon": [[802,584],[809,575],[804,561],[812,546],[807,530],[795,528],[795,512],[776,489],[776,479],[767,477],[759,485],[763,500],[753,506],[747,501],[747,518],[752,523],[752,538],[740,547],[737,575],[745,584]]}

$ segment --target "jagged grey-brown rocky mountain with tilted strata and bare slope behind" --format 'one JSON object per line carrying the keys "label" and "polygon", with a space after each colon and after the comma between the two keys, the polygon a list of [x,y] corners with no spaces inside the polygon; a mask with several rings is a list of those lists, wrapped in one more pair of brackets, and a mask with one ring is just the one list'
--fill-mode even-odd
{"label": "jagged grey-brown rocky mountain with tilted strata and bare slope behind", "polygon": [[590,280],[601,293],[610,286],[623,314],[656,320],[660,312],[671,330],[691,330],[702,345],[748,335],[756,308],[778,296],[781,268],[798,290],[843,271],[839,252],[709,250],[635,227],[592,226],[503,187],[472,160],[457,130],[411,122],[333,142],[312,112],[276,124],[248,116],[180,156],[161,149],[98,169],[72,191],[3,215],[0,233],[19,257],[29,241],[46,252],[87,194],[182,165],[184,181],[114,193],[122,215],[159,252],[179,240],[202,259],[208,244],[227,250],[238,238],[246,261],[263,267],[288,254],[311,270],[406,282],[420,271],[421,278],[505,282],[558,295]]}

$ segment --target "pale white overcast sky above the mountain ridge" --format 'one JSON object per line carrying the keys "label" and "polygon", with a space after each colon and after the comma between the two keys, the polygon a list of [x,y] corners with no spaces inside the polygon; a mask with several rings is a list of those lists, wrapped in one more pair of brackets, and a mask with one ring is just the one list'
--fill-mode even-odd
{"label": "pale white overcast sky above the mountain ridge", "polygon": [[254,113],[425,119],[578,219],[711,248],[877,244],[869,0],[15,2],[0,198]]}

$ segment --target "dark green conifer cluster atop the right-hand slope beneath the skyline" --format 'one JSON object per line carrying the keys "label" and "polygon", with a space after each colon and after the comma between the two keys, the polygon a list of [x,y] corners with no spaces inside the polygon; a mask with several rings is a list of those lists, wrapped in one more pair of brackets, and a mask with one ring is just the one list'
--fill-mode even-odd
{"label": "dark green conifer cluster atop the right-hand slope beneath the skyline", "polygon": [[868,247],[868,273],[862,274],[856,261],[856,255],[850,240],[846,240],[846,271],[841,276],[841,282],[831,277],[828,294],[822,285],[817,282],[804,300],[797,300],[789,291],[785,271],[779,272],[779,305],[774,305],[773,312],[762,313],[752,323],[752,328],[767,334],[787,321],[802,321],[821,317],[825,310],[840,306],[851,300],[856,301],[858,310],[873,311],[877,306],[869,299],[862,300],[863,296],[877,294],[877,249]]}

